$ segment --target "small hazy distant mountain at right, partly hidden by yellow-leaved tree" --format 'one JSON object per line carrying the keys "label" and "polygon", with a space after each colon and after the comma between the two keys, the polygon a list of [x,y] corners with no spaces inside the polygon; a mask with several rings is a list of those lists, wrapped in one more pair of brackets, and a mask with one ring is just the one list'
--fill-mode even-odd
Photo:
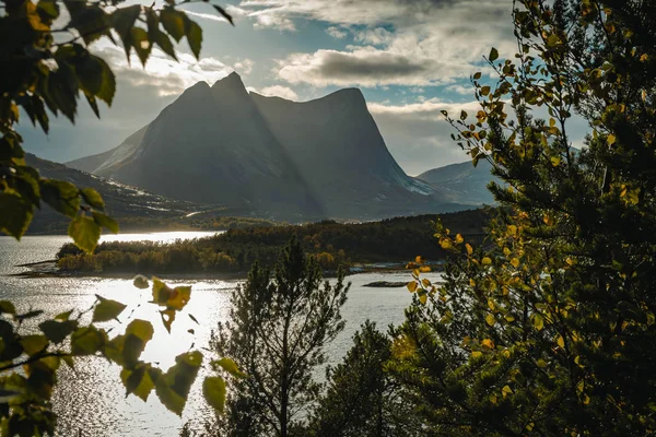
{"label": "small hazy distant mountain at right, partly hidden by yellow-leaved tree", "polygon": [[458,203],[471,205],[493,204],[492,193],[485,188],[495,177],[490,174],[492,166],[485,160],[475,167],[471,162],[452,164],[427,170],[418,176],[433,186],[449,190]]}

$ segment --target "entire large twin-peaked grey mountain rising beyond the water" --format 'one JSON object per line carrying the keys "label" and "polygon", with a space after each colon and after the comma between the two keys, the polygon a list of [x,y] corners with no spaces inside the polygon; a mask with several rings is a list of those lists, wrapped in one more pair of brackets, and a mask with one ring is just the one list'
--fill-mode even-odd
{"label": "entire large twin-peaked grey mountain rising beyond the water", "polygon": [[68,165],[279,220],[461,209],[403,173],[359,90],[294,103],[248,93],[236,73],[211,87],[197,83],[118,147]]}

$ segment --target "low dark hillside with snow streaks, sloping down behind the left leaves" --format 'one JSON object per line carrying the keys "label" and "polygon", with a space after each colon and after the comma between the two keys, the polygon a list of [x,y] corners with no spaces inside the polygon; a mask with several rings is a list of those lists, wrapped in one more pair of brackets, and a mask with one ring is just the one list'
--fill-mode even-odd
{"label": "low dark hillside with snow streaks, sloping down behind the left leaves", "polygon": [[[101,193],[105,201],[106,211],[114,217],[150,217],[167,218],[197,212],[202,206],[190,202],[166,199],[162,196],[145,192],[139,188],[129,187],[115,181],[105,180],[62,164],[42,160],[33,154],[26,154],[27,165],[36,167],[43,177],[66,180],[79,188],[93,188]],[[31,233],[66,231],[69,218],[51,210],[45,202],[34,216],[30,226]]]}

